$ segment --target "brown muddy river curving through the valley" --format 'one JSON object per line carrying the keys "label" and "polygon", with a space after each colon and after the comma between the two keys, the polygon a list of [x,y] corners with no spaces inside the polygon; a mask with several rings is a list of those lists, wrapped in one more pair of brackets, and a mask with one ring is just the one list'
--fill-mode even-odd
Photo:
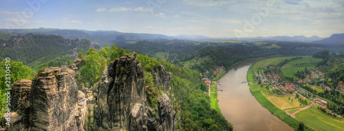
{"label": "brown muddy river curving through the valley", "polygon": [[219,82],[217,99],[226,120],[233,124],[233,130],[293,130],[259,104],[250,93],[246,74],[251,64],[259,61],[247,60],[233,66]]}

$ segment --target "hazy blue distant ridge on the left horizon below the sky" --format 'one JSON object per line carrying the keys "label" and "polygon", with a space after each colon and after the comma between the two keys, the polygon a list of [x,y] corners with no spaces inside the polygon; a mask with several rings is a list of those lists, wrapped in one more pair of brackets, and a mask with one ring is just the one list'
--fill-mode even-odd
{"label": "hazy blue distant ridge on the left horizon below the sky", "polygon": [[100,46],[111,45],[115,40],[150,40],[150,39],[173,39],[171,36],[163,34],[140,34],[123,33],[117,31],[87,31],[81,29],[0,29],[0,31],[11,32],[15,34],[55,34],[69,39],[88,39],[98,43]]}

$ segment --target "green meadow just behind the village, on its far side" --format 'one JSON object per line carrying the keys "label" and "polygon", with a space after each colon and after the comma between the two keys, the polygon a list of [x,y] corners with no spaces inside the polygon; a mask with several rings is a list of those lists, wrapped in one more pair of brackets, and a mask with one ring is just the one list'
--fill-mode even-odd
{"label": "green meadow just behind the village, on its far side", "polygon": [[294,67],[288,67],[288,68],[281,69],[281,72],[286,77],[296,79],[297,76],[294,74],[297,73],[297,71],[305,70],[306,67],[307,69],[315,69],[316,64],[305,64],[305,65],[299,65],[299,66],[294,66]]}

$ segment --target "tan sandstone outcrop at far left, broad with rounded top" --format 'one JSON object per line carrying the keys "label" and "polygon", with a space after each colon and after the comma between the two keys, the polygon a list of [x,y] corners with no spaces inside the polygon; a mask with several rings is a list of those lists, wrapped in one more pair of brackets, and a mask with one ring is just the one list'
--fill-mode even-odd
{"label": "tan sandstone outcrop at far left, broad with rounded top", "polygon": [[17,122],[9,130],[84,130],[85,95],[66,71],[42,69],[32,82],[16,82],[13,91]]}

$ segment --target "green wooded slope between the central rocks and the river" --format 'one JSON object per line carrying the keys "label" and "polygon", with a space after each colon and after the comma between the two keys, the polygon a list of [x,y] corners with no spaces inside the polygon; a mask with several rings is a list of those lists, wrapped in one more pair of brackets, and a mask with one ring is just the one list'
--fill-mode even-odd
{"label": "green wooded slope between the central rocks and the river", "polygon": [[[182,130],[233,130],[232,125],[226,121],[221,112],[211,108],[211,99],[208,94],[204,94],[208,88],[200,80],[200,75],[197,72],[142,54],[138,55],[137,58],[144,71],[147,71],[145,73],[151,73],[152,69],[160,64],[164,66],[166,71],[172,73],[171,90],[174,97],[170,97],[171,103],[173,110],[180,112],[179,115],[182,117],[181,125],[177,124],[176,128],[182,128]],[[146,82],[151,83],[151,76],[145,76],[149,78]],[[154,95],[150,97],[155,99]]]}

